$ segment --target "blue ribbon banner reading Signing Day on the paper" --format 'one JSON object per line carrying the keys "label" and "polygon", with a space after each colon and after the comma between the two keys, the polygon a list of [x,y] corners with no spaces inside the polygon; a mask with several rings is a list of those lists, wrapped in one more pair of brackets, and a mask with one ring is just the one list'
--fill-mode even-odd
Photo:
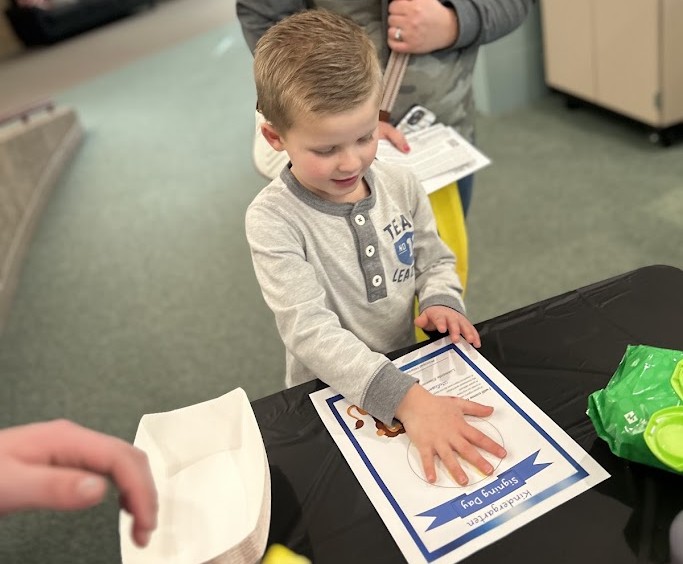
{"label": "blue ribbon banner reading Signing Day on the paper", "polygon": [[506,470],[498,476],[498,479],[490,484],[473,491],[470,494],[461,495],[442,503],[433,509],[428,509],[418,514],[419,517],[433,517],[434,521],[427,527],[427,530],[440,527],[458,517],[464,518],[472,513],[485,508],[487,505],[498,501],[518,488],[526,484],[526,480],[538,474],[544,468],[550,466],[552,462],[542,462],[535,464],[536,457],[540,451],[536,451],[512,468]]}

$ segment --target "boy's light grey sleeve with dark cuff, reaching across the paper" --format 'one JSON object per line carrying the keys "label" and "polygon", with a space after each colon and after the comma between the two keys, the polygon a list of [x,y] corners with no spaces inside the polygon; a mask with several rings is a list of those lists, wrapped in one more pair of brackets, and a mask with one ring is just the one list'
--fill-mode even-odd
{"label": "boy's light grey sleeve with dark cuff, reaching across the paper", "polygon": [[387,425],[416,379],[344,329],[282,209],[252,204],[246,231],[256,277],[287,350],[313,374]]}

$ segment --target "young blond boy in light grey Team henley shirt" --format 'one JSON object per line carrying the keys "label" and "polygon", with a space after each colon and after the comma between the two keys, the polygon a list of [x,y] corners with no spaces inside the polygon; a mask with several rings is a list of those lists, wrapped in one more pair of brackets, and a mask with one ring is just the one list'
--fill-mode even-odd
{"label": "young blond boy in light grey Team henley shirt", "polygon": [[426,193],[410,172],[374,160],[374,45],[349,19],[299,12],[259,40],[254,74],[262,133],[291,159],[246,215],[254,270],[287,349],[287,385],[317,377],[385,424],[400,420],[430,482],[434,456],[460,484],[456,454],[490,474],[476,447],[505,450],[463,416],[492,408],[432,395],[383,354],[415,342],[415,296],[415,325],[480,342]]}

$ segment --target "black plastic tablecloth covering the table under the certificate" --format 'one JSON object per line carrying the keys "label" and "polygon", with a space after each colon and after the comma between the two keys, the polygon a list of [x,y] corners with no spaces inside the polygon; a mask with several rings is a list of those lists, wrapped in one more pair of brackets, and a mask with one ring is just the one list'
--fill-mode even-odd
{"label": "black plastic tablecloth covering the table under the certificate", "polygon": [[[612,477],[465,562],[668,562],[683,478],[614,456],[596,437],[586,407],[627,345],[683,350],[683,271],[642,268],[477,328],[481,353]],[[272,478],[269,543],[316,564],[402,562],[308,397],[322,387],[308,382],[252,404]]]}

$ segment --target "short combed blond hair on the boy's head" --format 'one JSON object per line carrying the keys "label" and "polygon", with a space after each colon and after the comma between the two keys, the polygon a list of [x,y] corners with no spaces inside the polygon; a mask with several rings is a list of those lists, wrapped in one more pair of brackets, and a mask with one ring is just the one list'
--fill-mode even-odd
{"label": "short combed blond hair on the boy's head", "polygon": [[374,44],[352,20],[306,10],[278,22],[254,51],[259,110],[281,134],[303,114],[336,114],[379,97]]}

